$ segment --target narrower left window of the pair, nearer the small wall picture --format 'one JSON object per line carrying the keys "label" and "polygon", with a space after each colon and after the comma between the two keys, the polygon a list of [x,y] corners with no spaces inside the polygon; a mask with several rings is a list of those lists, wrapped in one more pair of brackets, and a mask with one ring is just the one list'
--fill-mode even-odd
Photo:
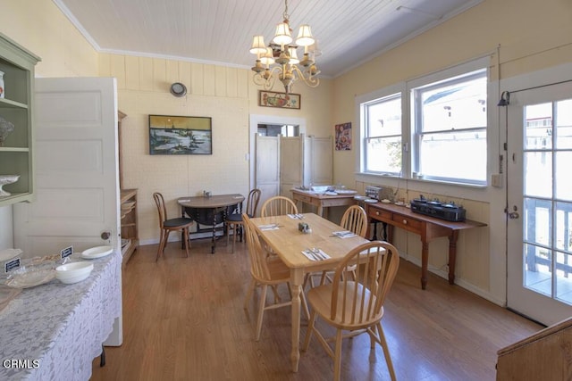
{"label": "narrower left window of the pair, nearer the small wall picture", "polygon": [[401,172],[401,95],[376,99],[363,105],[365,122],[364,169],[399,175]]}

